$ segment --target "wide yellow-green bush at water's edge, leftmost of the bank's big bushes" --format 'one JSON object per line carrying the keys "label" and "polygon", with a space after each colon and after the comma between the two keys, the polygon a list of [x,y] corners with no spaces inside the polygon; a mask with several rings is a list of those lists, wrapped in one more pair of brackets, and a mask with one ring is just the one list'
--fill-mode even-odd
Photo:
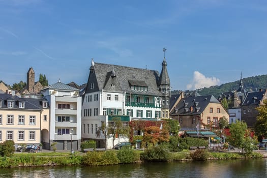
{"label": "wide yellow-green bush at water's edge, leftmost of the bank's big bushes", "polygon": [[114,151],[87,152],[83,158],[83,164],[88,166],[105,166],[118,164],[118,158]]}

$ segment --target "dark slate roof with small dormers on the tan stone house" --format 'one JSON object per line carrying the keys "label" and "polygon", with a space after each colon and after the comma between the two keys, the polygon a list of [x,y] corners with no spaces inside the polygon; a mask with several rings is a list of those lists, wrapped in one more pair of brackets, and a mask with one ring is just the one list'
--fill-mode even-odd
{"label": "dark slate roof with small dormers on the tan stone house", "polygon": [[[220,104],[220,102],[213,95],[182,98],[170,115],[201,114],[209,103]],[[192,111],[190,110],[191,107]]]}

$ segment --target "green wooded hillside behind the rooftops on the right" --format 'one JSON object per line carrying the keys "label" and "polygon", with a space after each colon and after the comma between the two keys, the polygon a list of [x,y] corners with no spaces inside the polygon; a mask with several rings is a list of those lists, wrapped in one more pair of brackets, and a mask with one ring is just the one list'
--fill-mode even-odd
{"label": "green wooded hillside behind the rooftops on the right", "polygon": [[[223,92],[228,91],[235,91],[239,88],[240,80],[236,80],[234,82],[228,82],[221,84],[220,86],[210,86],[210,87],[204,87],[197,92],[204,96],[204,95],[214,95],[216,98],[221,95]],[[267,88],[267,75],[258,75],[254,77],[247,77],[243,78],[244,88],[247,91],[257,91],[259,88]],[[179,91],[175,90],[172,91],[171,94],[177,94]],[[189,91],[185,91],[189,92]]]}

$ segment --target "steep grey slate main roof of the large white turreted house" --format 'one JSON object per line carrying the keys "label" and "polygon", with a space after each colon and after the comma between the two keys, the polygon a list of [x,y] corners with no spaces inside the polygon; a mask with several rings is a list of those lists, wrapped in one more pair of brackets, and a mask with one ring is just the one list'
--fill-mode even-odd
{"label": "steep grey slate main roof of the large white turreted house", "polygon": [[[158,71],[102,63],[94,63],[94,65],[91,66],[91,70],[92,68],[96,75],[99,91],[102,89],[107,89],[106,91],[109,91],[108,88],[105,88],[108,86],[106,83],[113,77],[116,79],[116,83],[120,85],[118,90],[122,90],[123,92],[154,96],[162,95],[157,85],[159,80]],[[115,76],[111,76],[112,71],[114,71]],[[141,83],[142,85],[145,83],[147,85],[147,91],[132,91],[130,82]],[[90,91],[86,90],[86,93],[87,92],[89,93]]]}

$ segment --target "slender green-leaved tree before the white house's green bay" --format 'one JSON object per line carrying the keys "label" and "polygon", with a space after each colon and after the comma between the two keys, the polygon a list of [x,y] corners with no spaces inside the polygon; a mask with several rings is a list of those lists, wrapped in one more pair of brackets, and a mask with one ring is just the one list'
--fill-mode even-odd
{"label": "slender green-leaved tree before the white house's green bay", "polygon": [[[120,143],[120,135],[129,137],[129,127],[123,127],[120,116],[113,117],[112,121],[114,122],[114,126],[108,128],[108,133],[110,133],[113,137],[112,146],[114,149],[114,140],[116,137],[118,137],[118,143]],[[120,146],[118,147],[118,149],[120,149]]]}

